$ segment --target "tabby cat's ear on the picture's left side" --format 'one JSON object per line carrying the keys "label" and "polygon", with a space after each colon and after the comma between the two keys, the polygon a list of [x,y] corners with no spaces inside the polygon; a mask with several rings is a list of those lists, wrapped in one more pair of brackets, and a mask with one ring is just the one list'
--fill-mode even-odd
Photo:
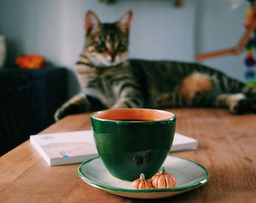
{"label": "tabby cat's ear on the picture's left side", "polygon": [[100,26],[101,23],[96,14],[94,14],[93,11],[87,11],[87,14],[85,14],[84,17],[84,28],[87,32],[87,35],[90,35],[91,33],[99,30]]}

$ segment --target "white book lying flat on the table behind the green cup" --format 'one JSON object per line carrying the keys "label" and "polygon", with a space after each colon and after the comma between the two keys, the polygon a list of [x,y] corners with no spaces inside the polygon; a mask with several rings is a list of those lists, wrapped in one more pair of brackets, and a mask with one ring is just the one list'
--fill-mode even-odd
{"label": "white book lying flat on the table behind the green cup", "polygon": [[[48,165],[66,165],[84,162],[99,156],[92,130],[30,135],[30,142]],[[175,132],[171,151],[196,150],[194,138]]]}

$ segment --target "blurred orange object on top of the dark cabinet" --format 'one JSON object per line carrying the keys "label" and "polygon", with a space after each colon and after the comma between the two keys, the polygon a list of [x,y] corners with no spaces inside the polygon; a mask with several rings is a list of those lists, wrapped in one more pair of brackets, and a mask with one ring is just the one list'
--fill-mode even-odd
{"label": "blurred orange object on top of the dark cabinet", "polygon": [[20,68],[26,69],[38,69],[43,67],[44,63],[44,57],[36,54],[26,54],[24,56],[18,56],[16,59],[16,64]]}

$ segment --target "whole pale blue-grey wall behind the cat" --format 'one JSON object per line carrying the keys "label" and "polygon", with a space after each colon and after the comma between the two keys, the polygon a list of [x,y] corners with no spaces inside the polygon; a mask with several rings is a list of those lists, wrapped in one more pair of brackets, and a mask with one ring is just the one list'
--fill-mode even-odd
{"label": "whole pale blue-grey wall behind the cat", "polygon": [[[84,46],[84,14],[95,11],[105,22],[133,11],[130,57],[194,61],[197,53],[233,47],[244,32],[247,2],[232,10],[224,0],[0,0],[0,35],[8,41],[7,65],[24,53],[38,53],[53,65],[72,70]],[[244,56],[225,56],[204,63],[243,80]],[[70,95],[78,92],[70,74]]]}

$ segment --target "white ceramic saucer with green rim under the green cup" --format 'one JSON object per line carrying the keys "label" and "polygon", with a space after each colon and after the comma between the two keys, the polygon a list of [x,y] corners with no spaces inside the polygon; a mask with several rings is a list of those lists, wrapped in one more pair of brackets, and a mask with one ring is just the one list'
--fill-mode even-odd
{"label": "white ceramic saucer with green rim under the green cup", "polygon": [[163,167],[175,177],[177,181],[175,187],[132,189],[132,182],[113,177],[105,168],[100,157],[82,163],[78,168],[78,175],[91,186],[129,198],[166,198],[203,186],[209,180],[209,172],[206,168],[188,159],[167,156]]}

